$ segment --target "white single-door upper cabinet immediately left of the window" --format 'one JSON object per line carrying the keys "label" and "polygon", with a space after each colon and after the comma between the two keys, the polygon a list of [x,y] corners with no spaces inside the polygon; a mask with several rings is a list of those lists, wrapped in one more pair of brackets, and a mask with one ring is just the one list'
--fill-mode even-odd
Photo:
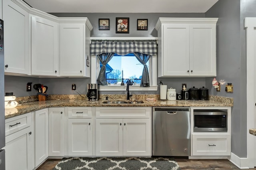
{"label": "white single-door upper cabinet immediately left of the window", "polygon": [[90,77],[87,56],[90,57],[91,30],[87,19],[60,23],[60,76]]}

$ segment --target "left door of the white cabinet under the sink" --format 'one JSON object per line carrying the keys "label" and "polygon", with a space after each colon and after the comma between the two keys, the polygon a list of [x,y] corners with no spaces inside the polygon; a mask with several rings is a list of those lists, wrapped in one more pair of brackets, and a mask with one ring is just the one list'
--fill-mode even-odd
{"label": "left door of the white cabinet under the sink", "polygon": [[123,156],[122,124],[122,119],[96,119],[96,156]]}

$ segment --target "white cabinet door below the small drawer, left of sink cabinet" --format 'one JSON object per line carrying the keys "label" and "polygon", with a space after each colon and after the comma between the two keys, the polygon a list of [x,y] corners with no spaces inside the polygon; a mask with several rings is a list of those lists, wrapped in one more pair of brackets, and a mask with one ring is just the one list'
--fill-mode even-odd
{"label": "white cabinet door below the small drawer, left of sink cabinet", "polygon": [[68,156],[92,156],[92,119],[68,119]]}

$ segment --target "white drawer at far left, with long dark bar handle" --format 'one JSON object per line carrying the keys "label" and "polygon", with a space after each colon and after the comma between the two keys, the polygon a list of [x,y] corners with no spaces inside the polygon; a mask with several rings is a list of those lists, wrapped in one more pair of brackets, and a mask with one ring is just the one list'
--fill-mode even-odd
{"label": "white drawer at far left, with long dark bar handle", "polygon": [[12,117],[5,120],[5,136],[22,130],[31,125],[31,113]]}

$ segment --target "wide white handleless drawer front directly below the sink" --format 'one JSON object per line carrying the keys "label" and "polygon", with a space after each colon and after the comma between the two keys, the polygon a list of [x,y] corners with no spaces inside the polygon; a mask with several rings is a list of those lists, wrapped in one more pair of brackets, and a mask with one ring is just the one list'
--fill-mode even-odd
{"label": "wide white handleless drawer front directly below the sink", "polygon": [[151,107],[96,107],[96,118],[150,118]]}

